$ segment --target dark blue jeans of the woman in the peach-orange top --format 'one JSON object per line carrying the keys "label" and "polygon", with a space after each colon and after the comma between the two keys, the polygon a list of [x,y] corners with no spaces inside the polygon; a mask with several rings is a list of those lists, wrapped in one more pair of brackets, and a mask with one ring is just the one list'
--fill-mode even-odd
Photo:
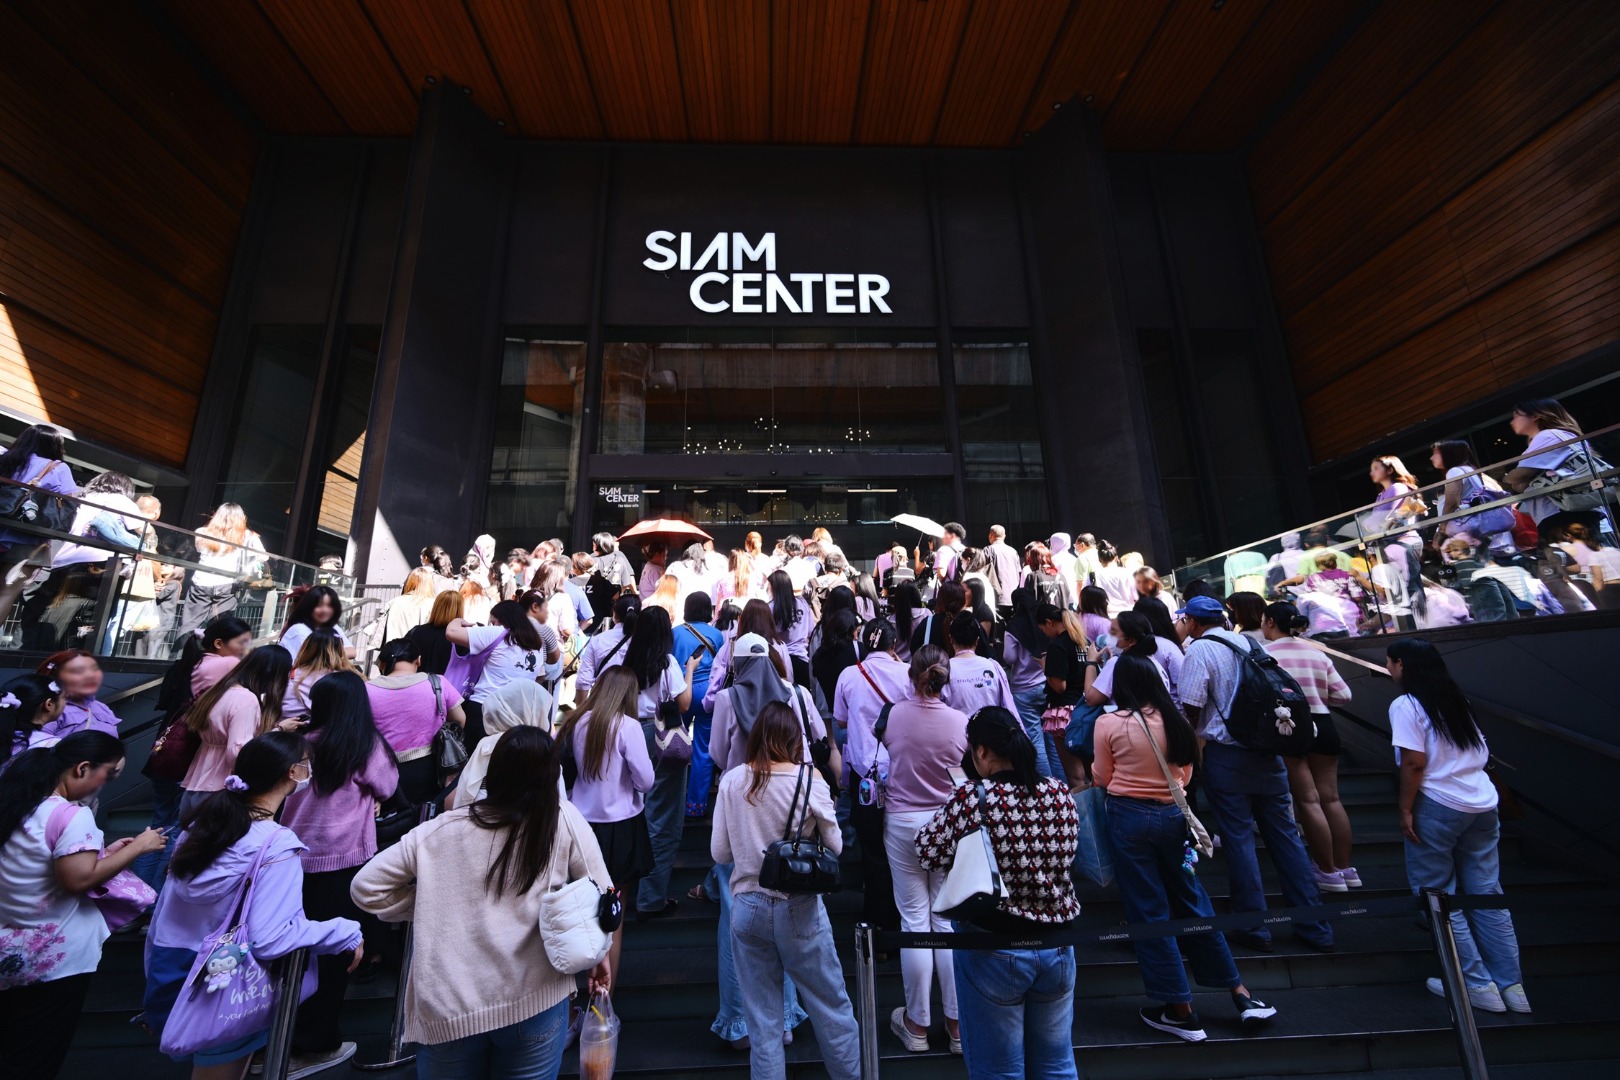
{"label": "dark blue jeans of the woman in the peach-orange top", "polygon": [[[1215,915],[1204,882],[1183,870],[1186,836],[1187,823],[1173,803],[1108,797],[1108,840],[1115,850],[1115,881],[1119,882],[1128,923]],[[1199,986],[1236,989],[1243,984],[1221,934],[1157,938],[1134,946],[1147,996],[1166,1006],[1192,1001],[1183,955],[1192,963],[1192,978]]]}

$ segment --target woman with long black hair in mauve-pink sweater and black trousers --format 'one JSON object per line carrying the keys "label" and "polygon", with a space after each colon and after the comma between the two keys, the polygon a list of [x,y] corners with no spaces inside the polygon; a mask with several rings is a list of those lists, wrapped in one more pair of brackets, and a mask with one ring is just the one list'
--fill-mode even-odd
{"label": "woman with long black hair in mauve-pink sweater and black trousers", "polygon": [[[332,672],[309,693],[309,787],[282,806],[282,824],[305,842],[305,915],[360,918],[348,895],[360,868],[377,853],[376,808],[399,787],[394,753],[371,719],[366,682]],[[321,983],[301,1006],[293,1054],[330,1054],[343,1040],[339,1020],[348,989],[348,960],[318,957]],[[374,963],[374,960],[373,960]]]}

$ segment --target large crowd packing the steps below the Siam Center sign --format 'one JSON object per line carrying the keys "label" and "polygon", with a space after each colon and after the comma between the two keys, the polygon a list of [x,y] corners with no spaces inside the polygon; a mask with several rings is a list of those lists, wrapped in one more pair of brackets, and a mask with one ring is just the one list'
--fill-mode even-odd
{"label": "large crowd packing the steps below the Siam Center sign", "polygon": [[[49,478],[52,447],[24,449],[19,471]],[[1380,473],[1395,476],[1392,512],[1409,495],[1401,474]],[[240,557],[245,523],[222,508],[215,525]],[[118,717],[97,701],[89,651],[52,654],[0,688],[0,1046],[23,1048],[10,1075],[57,1075],[102,944],[143,925],[143,1022],[194,1077],[240,1078],[266,1043],[240,1023],[181,1043],[207,1001],[198,988],[300,947],[318,960],[292,1075],[332,1067],[355,1052],[348,981],[399,962],[390,926],[407,921],[420,1074],[556,1075],[582,1002],[612,994],[624,938],[714,904],[714,1035],[753,1075],[779,1077],[808,1018],[826,1070],[854,1078],[825,887],[784,871],[773,852],[791,844],[823,860],[855,847],[876,926],[1006,934],[1003,950],[901,950],[904,1004],[888,1017],[901,1048],[961,1054],[972,1077],[1072,1077],[1074,950],[1011,946],[1079,916],[1092,789],[1129,921],[1213,915],[1189,798],[1218,834],[1231,912],[1252,915],[1225,934],[1136,942],[1140,1020],[1207,1038],[1187,960],[1192,981],[1230,996],[1233,1025],[1268,1022],[1278,1009],[1234,959],[1275,947],[1259,842],[1290,907],[1362,886],[1332,712],[1351,691],[1306,640],[1322,636],[1309,602],[1199,581],[1178,596],[1089,533],[983,538],[972,547],[948,523],[870,570],[826,529],[770,551],[750,533],[726,555],[682,536],[646,539],[638,559],[611,534],[591,552],[546,541],[501,560],[480,536],[460,565],[428,547],[381,615],[369,672],[334,589],[296,591],[277,640],[254,648],[194,576],[181,617],[198,625],[164,680],[144,767],[152,826],[105,847],[92,806],[125,764]],[[1393,539],[1385,555],[1406,576],[1387,581],[1427,588],[1424,544]],[[1379,588],[1356,568],[1327,575]],[[1254,670],[1280,672],[1302,703],[1309,737],[1286,753],[1254,735]],[[1388,672],[1409,884],[1500,891],[1489,748],[1466,696],[1422,640],[1393,641]],[[437,816],[416,824],[429,803]],[[695,821],[710,823],[713,868],[671,895]],[[990,845],[1004,882],[970,915],[941,908],[967,837]],[[548,897],[582,879],[603,891],[590,912],[601,949],[564,970],[557,949],[578,942],[548,939]],[[1325,920],[1291,926],[1304,947],[1335,947]],[[1507,912],[1453,926],[1474,1006],[1528,1012]]]}

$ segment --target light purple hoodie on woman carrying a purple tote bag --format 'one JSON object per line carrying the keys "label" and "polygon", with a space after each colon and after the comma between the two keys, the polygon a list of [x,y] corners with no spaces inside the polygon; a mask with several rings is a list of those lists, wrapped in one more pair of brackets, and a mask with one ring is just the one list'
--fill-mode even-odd
{"label": "light purple hoodie on woman carrying a purple tote bag", "polygon": [[[274,839],[271,839],[274,834]],[[173,874],[164,884],[152,910],[147,938],[154,946],[196,952],[202,939],[219,929],[232,913],[237,884],[248,873],[259,847],[271,839],[259,878],[253,884],[248,926],[241,939],[253,944],[258,960],[274,960],[308,946],[316,955],[348,952],[360,944],[360,923],[352,918],[309,921],[303,913],[305,850],[298,836],[274,821],[254,821],[248,834],[232,844],[214,865],[190,881]],[[185,842],[185,837],[181,837]]]}

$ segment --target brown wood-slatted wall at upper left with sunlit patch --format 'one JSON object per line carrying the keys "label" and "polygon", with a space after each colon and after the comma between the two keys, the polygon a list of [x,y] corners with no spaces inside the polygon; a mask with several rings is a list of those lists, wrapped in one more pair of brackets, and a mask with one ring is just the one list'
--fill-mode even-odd
{"label": "brown wood-slatted wall at upper left with sunlit patch", "polygon": [[259,139],[138,5],[0,3],[0,408],[180,468]]}

